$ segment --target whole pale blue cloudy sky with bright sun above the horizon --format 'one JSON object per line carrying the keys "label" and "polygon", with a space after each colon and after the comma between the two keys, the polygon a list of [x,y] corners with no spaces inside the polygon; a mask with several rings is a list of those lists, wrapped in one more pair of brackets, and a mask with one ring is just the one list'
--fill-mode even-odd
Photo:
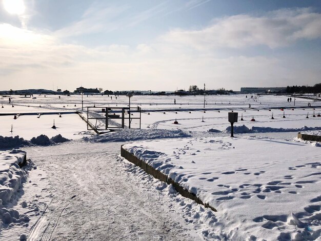
{"label": "whole pale blue cloudy sky with bright sun above the horizon", "polygon": [[321,83],[319,0],[0,3],[0,90]]}

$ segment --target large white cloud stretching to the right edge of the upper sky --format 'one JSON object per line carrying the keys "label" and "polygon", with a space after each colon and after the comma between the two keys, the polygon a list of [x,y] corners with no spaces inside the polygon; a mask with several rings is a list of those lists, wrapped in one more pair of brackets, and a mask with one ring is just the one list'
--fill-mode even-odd
{"label": "large white cloud stretching to the right edge of the upper sky", "polygon": [[165,41],[196,49],[244,48],[267,45],[284,47],[299,39],[321,37],[321,14],[311,9],[284,9],[264,16],[234,15],[214,19],[200,30],[174,29]]}

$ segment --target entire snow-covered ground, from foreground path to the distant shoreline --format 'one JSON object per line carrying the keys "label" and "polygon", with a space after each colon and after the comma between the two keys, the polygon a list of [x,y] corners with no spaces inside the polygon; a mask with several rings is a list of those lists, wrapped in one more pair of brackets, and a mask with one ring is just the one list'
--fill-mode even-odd
{"label": "entire snow-covered ground, from foreground path to the distant shoreline", "polygon": [[[66,113],[83,111],[81,95],[10,97],[10,105],[8,97],[0,97],[0,150],[20,147],[31,161],[18,170],[22,182],[3,207],[30,220],[3,223],[1,240],[24,235],[28,240],[320,238],[320,144],[295,138],[298,131],[321,129],[318,102],[296,98],[294,106],[287,96],[217,95],[206,96],[203,108],[204,96],[133,96],[131,106],[143,111],[142,129],[97,136],[78,114]],[[84,116],[94,105],[128,105],[126,96],[83,99]],[[102,117],[99,108],[89,115]],[[236,138],[229,137],[232,110],[238,112]],[[44,114],[37,118],[38,113]],[[95,119],[91,123],[96,125]],[[132,128],[137,126],[133,121]],[[144,155],[146,162],[162,163],[168,156],[163,170],[218,212],[180,196],[120,157],[121,145],[128,143],[137,153],[152,152]],[[215,167],[208,166],[213,162]]]}

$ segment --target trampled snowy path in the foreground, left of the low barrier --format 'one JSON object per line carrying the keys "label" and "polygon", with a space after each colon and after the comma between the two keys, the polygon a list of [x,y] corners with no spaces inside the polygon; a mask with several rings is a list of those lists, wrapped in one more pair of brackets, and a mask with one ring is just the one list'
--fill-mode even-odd
{"label": "trampled snowy path in the foreground, left of the low barrier", "polygon": [[[29,240],[196,240],[168,196],[146,185],[119,157],[121,143],[27,150],[46,170],[53,195]],[[150,178],[150,177],[149,177]]]}

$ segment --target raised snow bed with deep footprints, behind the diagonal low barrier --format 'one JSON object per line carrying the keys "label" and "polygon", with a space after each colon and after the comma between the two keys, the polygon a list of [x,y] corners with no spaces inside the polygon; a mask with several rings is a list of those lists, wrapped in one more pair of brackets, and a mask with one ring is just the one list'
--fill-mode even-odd
{"label": "raised snow bed with deep footprints, behind the diagonal low barrier", "polygon": [[228,233],[234,240],[320,236],[321,150],[315,146],[224,137],[123,147],[216,208],[215,234]]}

